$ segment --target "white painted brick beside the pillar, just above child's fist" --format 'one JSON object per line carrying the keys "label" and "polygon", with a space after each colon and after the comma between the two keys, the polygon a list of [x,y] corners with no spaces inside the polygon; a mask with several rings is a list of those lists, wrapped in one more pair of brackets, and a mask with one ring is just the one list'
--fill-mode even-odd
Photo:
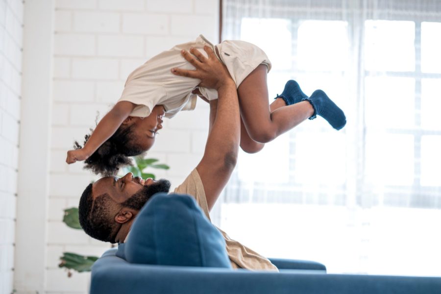
{"label": "white painted brick beside the pillar, just above child's fist", "polygon": [[89,133],[88,127],[52,126],[51,147],[67,152],[72,149],[75,140],[82,143],[86,133]]}

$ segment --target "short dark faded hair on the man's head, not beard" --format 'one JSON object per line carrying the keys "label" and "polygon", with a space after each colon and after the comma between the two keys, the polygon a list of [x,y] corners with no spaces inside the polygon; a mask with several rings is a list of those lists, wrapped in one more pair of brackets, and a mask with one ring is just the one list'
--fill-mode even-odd
{"label": "short dark faded hair on the man's head, not beard", "polygon": [[89,184],[81,195],[78,205],[78,218],[84,232],[92,238],[115,243],[118,224],[112,221],[110,209],[112,198],[108,194],[92,196],[92,184]]}

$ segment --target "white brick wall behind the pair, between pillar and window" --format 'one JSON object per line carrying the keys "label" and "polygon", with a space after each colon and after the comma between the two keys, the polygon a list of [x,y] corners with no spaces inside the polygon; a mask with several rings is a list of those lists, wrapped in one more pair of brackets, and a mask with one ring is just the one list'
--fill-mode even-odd
{"label": "white brick wall behind the pair, between pillar and window", "polygon": [[[55,0],[47,293],[87,292],[87,273],[68,278],[57,268],[62,252],[100,255],[109,247],[61,222],[63,209],[77,206],[95,178],[81,164],[66,165],[66,151],[73,140],[82,141],[97,111],[102,117],[110,109],[127,75],[148,58],[201,33],[216,43],[218,14],[218,0]],[[203,154],[209,108],[200,102],[195,111],[166,120],[148,153],[171,166],[150,172],[173,186]]]}

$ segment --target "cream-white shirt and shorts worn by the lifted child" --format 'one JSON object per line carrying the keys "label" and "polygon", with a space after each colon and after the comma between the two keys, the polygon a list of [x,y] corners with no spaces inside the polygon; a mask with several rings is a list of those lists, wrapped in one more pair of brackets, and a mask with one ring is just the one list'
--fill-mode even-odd
{"label": "cream-white shirt and shorts worn by the lifted child", "polygon": [[[180,110],[193,110],[196,107],[196,95],[192,94],[200,80],[174,75],[172,68],[194,70],[195,67],[184,59],[181,50],[198,49],[205,56],[204,46],[216,52],[215,46],[202,35],[195,41],[174,46],[151,59],[129,74],[123,94],[118,101],[130,101],[137,106],[130,116],[147,117],[155,105],[164,105],[165,117],[172,118]],[[225,64],[236,83],[242,83],[245,77],[260,64],[265,64],[268,71],[271,63],[265,52],[259,47],[244,41],[223,41],[217,45],[218,58]],[[199,88],[200,93],[209,100],[217,99],[216,90]]]}

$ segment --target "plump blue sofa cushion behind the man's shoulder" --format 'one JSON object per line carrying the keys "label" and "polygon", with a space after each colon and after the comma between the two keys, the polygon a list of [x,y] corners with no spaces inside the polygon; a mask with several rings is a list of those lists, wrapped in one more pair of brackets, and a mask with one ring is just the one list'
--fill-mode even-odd
{"label": "plump blue sofa cushion behind the man's shoulder", "polygon": [[133,222],[124,251],[136,264],[231,268],[221,233],[188,195],[153,196]]}

